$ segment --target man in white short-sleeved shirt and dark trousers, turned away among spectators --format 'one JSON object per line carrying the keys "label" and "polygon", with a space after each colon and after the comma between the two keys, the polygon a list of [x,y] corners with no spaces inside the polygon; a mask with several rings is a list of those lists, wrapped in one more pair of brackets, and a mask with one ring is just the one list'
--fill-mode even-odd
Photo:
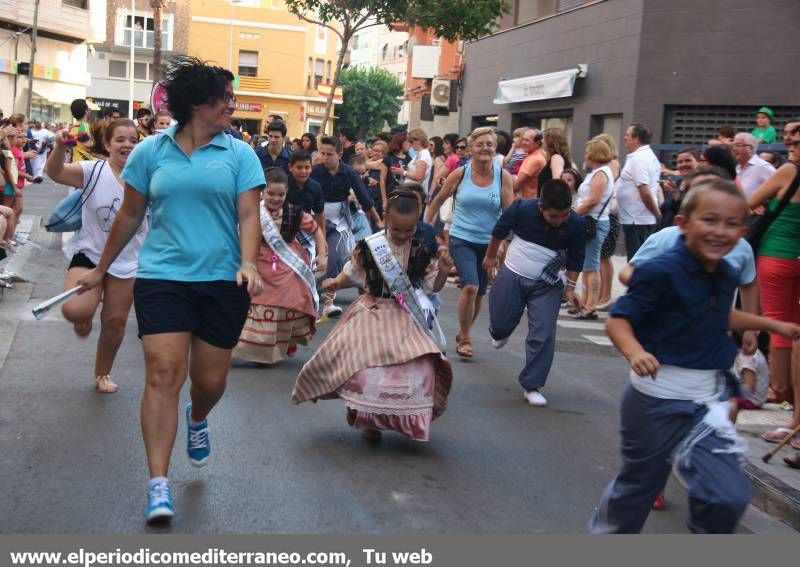
{"label": "man in white short-sleeved shirt and dark trousers, turned away among spectators", "polygon": [[661,220],[658,209],[661,164],[650,149],[651,136],[650,129],[644,124],[633,122],[628,126],[624,142],[629,153],[614,186],[628,261],[656,231]]}

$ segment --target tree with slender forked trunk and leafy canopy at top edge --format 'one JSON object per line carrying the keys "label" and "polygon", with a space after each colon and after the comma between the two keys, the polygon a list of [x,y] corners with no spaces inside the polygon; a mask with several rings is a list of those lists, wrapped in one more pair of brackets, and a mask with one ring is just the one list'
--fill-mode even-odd
{"label": "tree with slender forked trunk and leafy canopy at top edge", "polygon": [[497,18],[508,13],[508,0],[285,0],[289,11],[301,20],[325,26],[342,42],[336,60],[333,85],[322,131],[328,124],[342,63],[353,35],[370,26],[405,23],[433,29],[447,40],[472,40],[494,29]]}

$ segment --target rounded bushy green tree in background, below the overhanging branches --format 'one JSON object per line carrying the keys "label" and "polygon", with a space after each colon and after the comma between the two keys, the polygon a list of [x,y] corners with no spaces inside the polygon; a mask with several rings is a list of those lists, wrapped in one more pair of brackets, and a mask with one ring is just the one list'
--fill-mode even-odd
{"label": "rounded bushy green tree in background, below the overhanging branches", "polygon": [[379,132],[384,122],[397,120],[404,89],[390,72],[350,67],[342,70],[339,84],[344,91],[342,104],[336,108],[339,127],[349,126],[363,138],[367,132]]}

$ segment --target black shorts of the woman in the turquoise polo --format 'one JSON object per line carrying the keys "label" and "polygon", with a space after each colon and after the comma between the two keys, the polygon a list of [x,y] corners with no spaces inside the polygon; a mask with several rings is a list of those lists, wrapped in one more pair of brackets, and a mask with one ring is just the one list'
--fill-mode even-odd
{"label": "black shorts of the woman in the turquoise polo", "polygon": [[192,333],[208,344],[236,346],[247,319],[247,287],[232,281],[178,282],[136,278],[133,304],[139,337]]}

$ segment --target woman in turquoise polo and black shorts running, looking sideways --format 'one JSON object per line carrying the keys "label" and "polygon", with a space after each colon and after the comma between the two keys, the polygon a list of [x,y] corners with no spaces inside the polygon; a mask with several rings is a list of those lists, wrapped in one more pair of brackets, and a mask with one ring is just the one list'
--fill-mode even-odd
{"label": "woman in turquoise polo and black shorts running, looking sideways", "polygon": [[150,232],[133,291],[147,373],[142,435],[150,469],[148,522],[175,514],[167,471],[187,373],[187,452],[201,467],[211,452],[206,416],[225,391],[248,293],[261,289],[255,262],[264,172],[253,150],[224,132],[236,107],[233,78],[194,58],[170,66],[164,82],[178,124],[131,153],[122,172],[125,198],[103,254],[77,282],[88,290],[102,281],[149,206]]}

